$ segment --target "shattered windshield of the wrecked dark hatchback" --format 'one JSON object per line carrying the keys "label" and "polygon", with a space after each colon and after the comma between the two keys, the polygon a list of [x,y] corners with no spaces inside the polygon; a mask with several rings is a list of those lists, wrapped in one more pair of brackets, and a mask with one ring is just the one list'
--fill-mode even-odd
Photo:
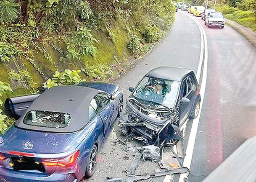
{"label": "shattered windshield of the wrecked dark hatchback", "polygon": [[160,78],[144,77],[136,87],[133,97],[145,101],[145,104],[173,108],[179,90],[179,82]]}

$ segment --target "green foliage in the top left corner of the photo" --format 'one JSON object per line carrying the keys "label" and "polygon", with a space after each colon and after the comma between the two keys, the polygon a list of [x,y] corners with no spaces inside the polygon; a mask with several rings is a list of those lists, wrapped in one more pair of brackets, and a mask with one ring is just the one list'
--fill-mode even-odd
{"label": "green foliage in the top left corner of the photo", "polygon": [[15,0],[0,0],[0,22],[11,23],[18,19],[18,4]]}

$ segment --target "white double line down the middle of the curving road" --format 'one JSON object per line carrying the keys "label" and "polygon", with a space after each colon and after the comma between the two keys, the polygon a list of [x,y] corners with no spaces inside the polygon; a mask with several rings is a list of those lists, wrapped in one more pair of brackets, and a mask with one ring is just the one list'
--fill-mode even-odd
{"label": "white double line down the middle of the curving road", "polygon": [[[187,15],[185,13],[182,13],[182,14]],[[207,46],[206,33],[205,33],[203,27],[201,26],[201,24],[198,23],[198,21],[195,18],[193,18],[192,16],[190,16],[190,15],[187,15],[187,16],[190,17],[198,25],[198,28],[201,32],[201,41],[202,40],[204,41],[203,42],[204,43],[204,64],[203,64],[203,76],[202,76],[201,90],[200,90],[200,94],[201,94],[201,103],[200,103],[200,105],[201,106],[200,106],[198,117],[195,118],[193,120],[193,123],[192,123],[192,128],[191,128],[190,136],[189,136],[188,143],[187,143],[186,156],[185,156],[184,161],[183,161],[183,166],[190,169],[191,161],[192,161],[192,157],[193,157],[193,151],[194,151],[194,147],[195,147],[196,134],[197,134],[198,125],[199,125],[199,119],[200,119],[200,116],[201,116],[201,110],[202,110],[202,105],[203,105],[203,100],[204,100],[204,94],[205,94],[205,90],[206,90],[207,64],[208,64],[208,46]],[[202,49],[201,49],[201,51],[202,51]],[[202,54],[203,53],[201,52],[201,55]],[[200,55],[200,60],[199,60],[199,65],[198,65],[198,70],[200,70],[199,71],[200,73],[197,72],[197,78],[200,78],[200,74],[201,74],[201,67],[199,68],[199,66],[201,64],[201,62],[200,62],[201,61],[201,55]],[[184,179],[187,178],[187,177],[188,177],[188,174],[181,174],[179,176],[179,182],[184,182]]]}

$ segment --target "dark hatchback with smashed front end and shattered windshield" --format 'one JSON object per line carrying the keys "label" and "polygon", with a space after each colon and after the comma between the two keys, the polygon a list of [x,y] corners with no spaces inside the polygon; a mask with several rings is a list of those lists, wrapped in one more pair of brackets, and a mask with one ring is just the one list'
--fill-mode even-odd
{"label": "dark hatchback with smashed front end and shattered windshield", "polygon": [[[123,134],[146,144],[156,143],[166,123],[172,125],[174,136],[181,137],[182,124],[187,118],[198,116],[201,97],[192,70],[158,67],[148,72],[135,88],[129,87],[129,91],[132,94],[127,98],[126,112],[121,115],[119,126]],[[173,137],[166,145],[178,141],[179,138]]]}

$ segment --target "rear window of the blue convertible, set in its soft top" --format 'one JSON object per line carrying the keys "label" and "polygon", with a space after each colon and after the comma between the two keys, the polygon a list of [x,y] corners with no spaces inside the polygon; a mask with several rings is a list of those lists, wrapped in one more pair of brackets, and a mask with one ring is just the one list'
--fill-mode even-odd
{"label": "rear window of the blue convertible, set in its soft top", "polygon": [[69,125],[71,115],[51,111],[29,111],[23,122],[27,125],[41,126],[48,128],[65,128]]}

